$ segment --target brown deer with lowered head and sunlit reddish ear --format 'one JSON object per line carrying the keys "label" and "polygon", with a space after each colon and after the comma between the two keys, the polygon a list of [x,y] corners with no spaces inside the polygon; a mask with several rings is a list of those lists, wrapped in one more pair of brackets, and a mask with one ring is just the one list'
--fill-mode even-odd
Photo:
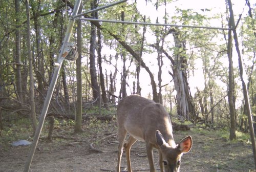
{"label": "brown deer with lowered head and sunlit reddish ear", "polygon": [[[137,141],[146,145],[150,172],[155,172],[153,148],[158,149],[161,172],[179,172],[181,156],[192,147],[192,137],[187,136],[176,144],[173,136],[172,122],[165,107],[139,95],[123,98],[117,106],[118,125],[118,161],[120,172],[123,148],[126,155],[127,169],[132,172],[130,150]],[[126,135],[129,137],[126,139]]]}

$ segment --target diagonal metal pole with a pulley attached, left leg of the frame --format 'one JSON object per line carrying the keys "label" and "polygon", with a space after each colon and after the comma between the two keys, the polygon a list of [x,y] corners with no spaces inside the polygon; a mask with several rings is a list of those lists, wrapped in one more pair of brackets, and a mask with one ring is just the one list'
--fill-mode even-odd
{"label": "diagonal metal pole with a pulley attached, left leg of the frame", "polygon": [[[72,16],[77,15],[80,4],[81,4],[81,0],[76,0]],[[28,155],[28,159],[27,159],[27,162],[25,164],[24,172],[29,171],[29,168],[30,168],[30,165],[31,165],[34,153],[35,153],[35,149],[36,149],[36,146],[37,146],[37,143],[38,143],[38,140],[39,140],[39,136],[40,136],[40,133],[41,133],[41,130],[42,130],[42,126],[44,125],[46,113],[48,111],[48,107],[49,107],[49,104],[50,104],[50,101],[51,101],[51,98],[52,98],[52,94],[53,94],[53,91],[54,91],[54,88],[55,88],[55,85],[56,85],[56,82],[57,82],[57,79],[58,79],[58,74],[59,74],[59,71],[60,71],[60,68],[61,68],[61,65],[62,65],[62,61],[64,60],[64,58],[62,57],[62,54],[63,54],[64,49],[65,49],[65,43],[68,42],[69,39],[70,39],[71,32],[72,32],[72,29],[74,27],[74,23],[75,23],[75,20],[73,18],[71,18],[70,21],[69,21],[69,26],[68,26],[66,35],[65,35],[65,39],[63,40],[63,44],[61,46],[61,50],[60,50],[60,53],[58,55],[57,63],[55,63],[56,66],[55,66],[55,69],[54,69],[52,81],[50,83],[50,87],[49,87],[49,90],[47,92],[44,107],[43,107],[41,115],[40,115],[39,123],[38,123],[38,126],[36,128],[36,132],[34,134],[33,143],[31,145],[30,153]]]}

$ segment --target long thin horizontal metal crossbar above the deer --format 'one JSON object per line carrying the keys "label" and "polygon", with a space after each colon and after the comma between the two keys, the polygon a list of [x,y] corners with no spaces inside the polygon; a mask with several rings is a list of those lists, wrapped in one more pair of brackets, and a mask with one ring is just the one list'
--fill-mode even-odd
{"label": "long thin horizontal metal crossbar above the deer", "polygon": [[185,28],[202,28],[202,29],[219,29],[219,30],[232,30],[232,28],[218,28],[208,26],[189,26],[189,25],[172,25],[172,24],[158,24],[158,23],[144,23],[144,22],[127,22],[120,20],[96,19],[96,18],[79,18],[80,20],[87,20],[92,22],[106,22],[106,23],[120,23],[132,25],[153,25],[153,26],[172,26],[172,27],[185,27]]}

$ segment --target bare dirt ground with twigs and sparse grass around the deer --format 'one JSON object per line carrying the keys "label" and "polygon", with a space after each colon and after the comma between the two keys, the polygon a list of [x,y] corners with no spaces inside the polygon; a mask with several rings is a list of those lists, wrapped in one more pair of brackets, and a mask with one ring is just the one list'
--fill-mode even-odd
{"label": "bare dirt ground with twigs and sparse grass around the deer", "polygon": [[[115,120],[83,123],[83,126],[84,132],[79,135],[73,134],[73,126],[55,127],[52,142],[47,141],[47,132],[42,132],[30,171],[115,171],[118,147]],[[193,148],[183,155],[180,171],[247,172],[254,168],[251,145],[244,141],[229,142],[216,131],[191,128],[187,132],[174,132],[176,143],[187,135],[193,137]],[[27,140],[32,141],[31,137]],[[9,144],[0,142],[0,171],[23,171],[30,146],[6,146]],[[149,171],[145,155],[144,143],[136,142],[131,149],[134,171]],[[154,156],[158,169],[157,151]],[[127,170],[125,155],[121,170]]]}

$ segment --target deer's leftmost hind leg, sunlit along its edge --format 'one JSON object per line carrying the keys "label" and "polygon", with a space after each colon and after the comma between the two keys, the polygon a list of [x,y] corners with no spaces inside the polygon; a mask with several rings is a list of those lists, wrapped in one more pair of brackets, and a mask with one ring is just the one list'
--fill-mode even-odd
{"label": "deer's leftmost hind leg, sunlit along its edge", "polygon": [[118,141],[119,141],[119,145],[118,145],[118,155],[117,155],[117,167],[116,167],[116,171],[120,172],[120,165],[121,165],[121,158],[122,158],[122,154],[123,154],[123,143],[125,141],[126,138],[126,130],[124,128],[119,127],[118,128]]}

